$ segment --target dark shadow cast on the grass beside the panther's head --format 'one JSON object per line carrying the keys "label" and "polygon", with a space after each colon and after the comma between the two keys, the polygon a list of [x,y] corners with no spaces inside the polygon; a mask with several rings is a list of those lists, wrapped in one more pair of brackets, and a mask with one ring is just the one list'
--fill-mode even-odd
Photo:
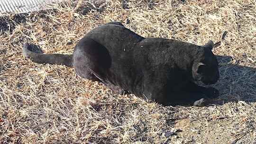
{"label": "dark shadow cast on the grass beside the panther's head", "polygon": [[222,105],[231,101],[256,102],[256,68],[232,64],[231,56],[216,55],[219,62],[219,81],[214,87],[219,98],[213,104]]}

